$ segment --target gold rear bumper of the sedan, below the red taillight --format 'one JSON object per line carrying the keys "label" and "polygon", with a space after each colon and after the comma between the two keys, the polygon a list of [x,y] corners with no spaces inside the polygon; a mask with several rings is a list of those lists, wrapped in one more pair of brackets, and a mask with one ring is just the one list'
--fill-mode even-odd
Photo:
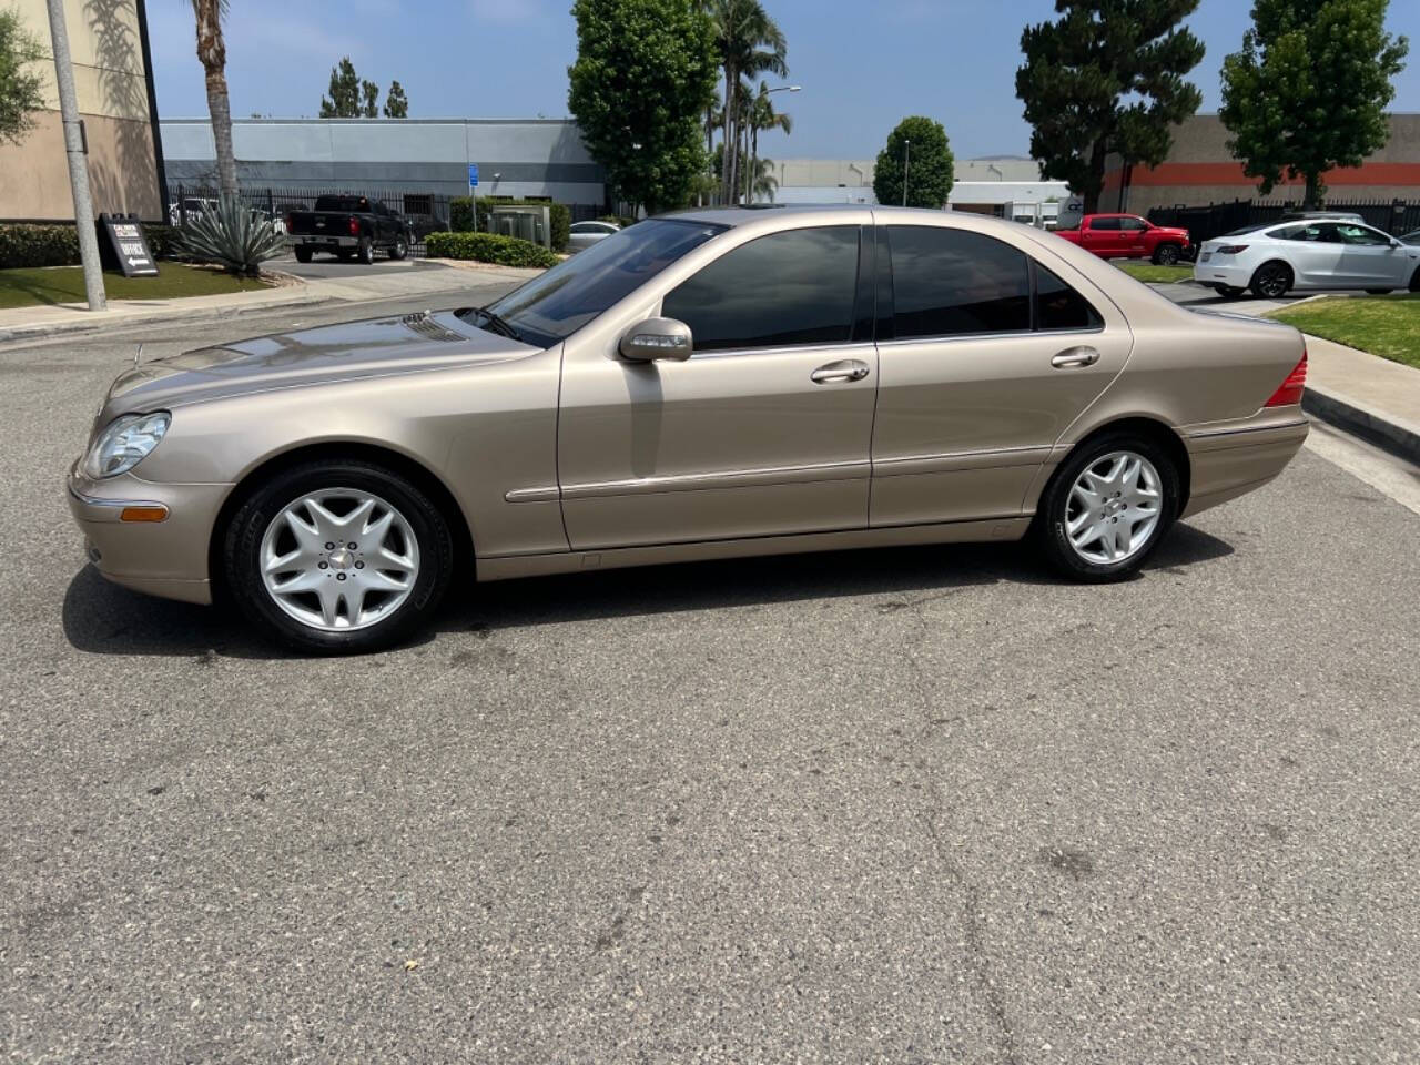
{"label": "gold rear bumper of the sedan, below the red taillight", "polygon": [[1187,426],[1191,467],[1189,506],[1181,517],[1244,496],[1277,477],[1306,440],[1301,406],[1269,408],[1252,417]]}

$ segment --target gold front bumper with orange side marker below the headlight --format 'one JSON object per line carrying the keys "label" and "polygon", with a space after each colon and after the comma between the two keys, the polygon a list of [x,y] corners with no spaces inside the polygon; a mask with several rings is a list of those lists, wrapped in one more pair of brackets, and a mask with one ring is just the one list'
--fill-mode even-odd
{"label": "gold front bumper with orange side marker below the headlight", "polygon": [[[230,484],[159,484],[131,473],[95,481],[75,463],[67,487],[70,513],[99,574],[149,595],[212,602],[207,548]],[[133,508],[148,511],[148,520],[125,520]],[[165,508],[166,517],[153,521],[153,508]]]}

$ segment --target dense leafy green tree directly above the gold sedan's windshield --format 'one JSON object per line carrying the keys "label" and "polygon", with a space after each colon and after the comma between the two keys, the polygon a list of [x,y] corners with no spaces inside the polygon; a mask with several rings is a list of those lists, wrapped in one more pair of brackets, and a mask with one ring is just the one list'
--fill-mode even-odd
{"label": "dense leafy green tree directly above the gold sedan's windshield", "polygon": [[567,104],[622,199],[684,204],[704,166],[714,37],[697,0],[577,0]]}

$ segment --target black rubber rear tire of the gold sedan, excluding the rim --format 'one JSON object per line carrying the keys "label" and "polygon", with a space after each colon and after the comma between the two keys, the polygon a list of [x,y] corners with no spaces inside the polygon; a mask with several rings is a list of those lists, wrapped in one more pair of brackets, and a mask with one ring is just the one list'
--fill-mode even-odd
{"label": "black rubber rear tire of the gold sedan, excluding the rim", "polygon": [[[1133,452],[1147,459],[1157,471],[1162,497],[1159,518],[1153,531],[1147,534],[1149,540],[1133,554],[1118,562],[1095,562],[1075,550],[1065,531],[1071,510],[1071,493],[1085,470],[1115,452]],[[1051,477],[1045,491],[1041,493],[1032,531],[1051,568],[1062,577],[1086,584],[1122,581],[1137,572],[1159,547],[1179,515],[1180,498],[1179,467],[1174,466],[1173,459],[1163,447],[1139,433],[1106,432],[1076,447]],[[1088,547],[1088,544],[1082,547]]]}

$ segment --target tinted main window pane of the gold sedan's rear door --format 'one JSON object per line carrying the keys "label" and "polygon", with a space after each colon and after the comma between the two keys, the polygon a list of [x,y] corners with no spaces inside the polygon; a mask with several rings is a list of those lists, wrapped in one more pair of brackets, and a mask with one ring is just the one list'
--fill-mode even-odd
{"label": "tinted main window pane of the gold sedan's rear door", "polygon": [[1031,274],[1024,251],[980,233],[936,226],[890,226],[888,243],[897,339],[1030,331]]}

